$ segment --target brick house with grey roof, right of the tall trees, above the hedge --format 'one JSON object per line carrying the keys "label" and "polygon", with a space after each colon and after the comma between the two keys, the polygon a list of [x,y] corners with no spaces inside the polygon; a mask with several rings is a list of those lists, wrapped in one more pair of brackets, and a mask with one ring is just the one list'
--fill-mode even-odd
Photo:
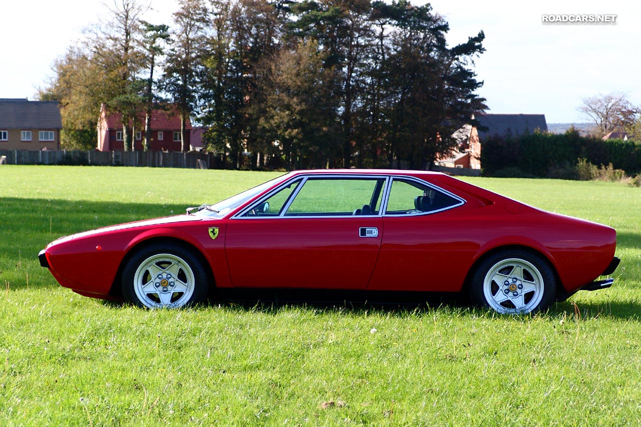
{"label": "brick house with grey roof, right of the tall trees, above the hedge", "polygon": [[437,165],[481,169],[481,146],[489,137],[518,137],[547,131],[545,114],[479,114],[478,128],[466,124],[452,135],[458,147],[451,155],[437,159]]}

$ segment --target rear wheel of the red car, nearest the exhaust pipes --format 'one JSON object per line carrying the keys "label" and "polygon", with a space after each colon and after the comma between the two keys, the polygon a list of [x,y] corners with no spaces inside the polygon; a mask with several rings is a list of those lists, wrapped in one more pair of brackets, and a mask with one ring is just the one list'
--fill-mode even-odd
{"label": "rear wheel of the red car, nearest the exhaust pipes", "polygon": [[554,301],[556,283],[547,260],[522,249],[504,250],[476,267],[470,283],[474,303],[501,314],[545,310]]}

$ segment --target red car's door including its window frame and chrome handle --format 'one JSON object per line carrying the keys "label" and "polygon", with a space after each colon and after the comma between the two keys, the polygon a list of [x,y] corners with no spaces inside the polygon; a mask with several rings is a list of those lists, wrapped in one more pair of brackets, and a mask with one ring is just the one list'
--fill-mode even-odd
{"label": "red car's door including its window frame and chrome handle", "polygon": [[365,289],[378,257],[387,180],[303,176],[229,219],[235,287]]}

